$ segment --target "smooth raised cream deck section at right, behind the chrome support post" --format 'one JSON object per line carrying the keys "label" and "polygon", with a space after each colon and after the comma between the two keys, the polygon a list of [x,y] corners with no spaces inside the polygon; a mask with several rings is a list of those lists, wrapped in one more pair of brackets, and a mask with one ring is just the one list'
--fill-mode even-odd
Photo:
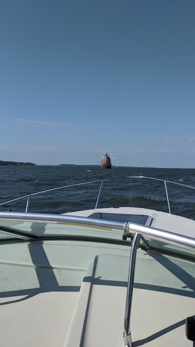
{"label": "smooth raised cream deck section at right, behind the chrome support post", "polygon": [[[124,346],[128,265],[129,257],[117,255],[100,255],[89,263],[65,347]],[[131,319],[133,347],[190,346],[185,318],[195,312],[194,277],[194,264],[153,252],[151,257],[138,254]]]}

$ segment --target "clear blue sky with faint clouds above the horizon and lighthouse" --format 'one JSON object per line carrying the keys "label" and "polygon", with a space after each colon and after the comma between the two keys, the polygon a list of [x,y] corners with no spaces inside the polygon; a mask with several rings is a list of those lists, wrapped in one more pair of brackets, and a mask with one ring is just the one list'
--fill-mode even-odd
{"label": "clear blue sky with faint clouds above the horizon and lighthouse", "polygon": [[194,0],[1,0],[0,160],[195,168]]}

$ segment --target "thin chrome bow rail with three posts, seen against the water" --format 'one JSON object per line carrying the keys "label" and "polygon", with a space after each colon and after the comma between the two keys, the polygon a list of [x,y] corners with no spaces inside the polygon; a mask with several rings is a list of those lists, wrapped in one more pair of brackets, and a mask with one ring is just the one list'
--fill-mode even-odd
{"label": "thin chrome bow rail with three posts, seen against the water", "polygon": [[172,181],[167,181],[167,180],[161,180],[158,178],[153,178],[153,177],[146,177],[146,176],[125,176],[125,177],[116,177],[116,178],[111,178],[111,179],[104,179],[104,180],[95,180],[95,181],[89,181],[89,182],[82,182],[82,183],[77,183],[77,184],[68,184],[68,185],[63,185],[60,187],[56,187],[56,188],[51,188],[51,189],[45,189],[45,190],[39,190],[38,192],[35,193],[30,193],[30,194],[26,194],[26,195],[21,195],[17,198],[14,199],[10,199],[10,200],[6,200],[2,203],[0,203],[0,205],[4,205],[4,204],[8,204],[11,203],[13,201],[17,201],[20,199],[24,199],[24,198],[28,198],[27,200],[27,204],[26,204],[26,212],[28,212],[29,209],[29,204],[30,204],[30,197],[33,195],[38,195],[41,193],[46,193],[49,191],[54,191],[54,190],[58,190],[58,189],[63,189],[63,188],[68,188],[68,187],[74,187],[74,186],[78,186],[78,185],[85,185],[85,184],[91,184],[91,183],[99,183],[101,182],[100,188],[99,188],[99,192],[98,192],[98,198],[97,198],[97,202],[96,202],[96,206],[95,209],[98,208],[98,203],[99,203],[99,199],[100,199],[100,195],[101,195],[101,190],[102,190],[102,185],[105,181],[115,181],[115,180],[122,180],[122,179],[147,179],[147,180],[153,180],[153,181],[159,181],[159,182],[164,182],[165,185],[165,191],[166,191],[166,197],[167,197],[167,203],[168,203],[168,208],[169,208],[169,213],[171,213],[171,204],[170,204],[170,200],[169,200],[169,194],[168,194],[168,188],[167,188],[167,183],[170,184],[176,184],[176,185],[181,185],[184,186],[186,188],[191,188],[191,189],[195,189],[195,187],[191,186],[191,185],[187,185],[187,184],[181,184],[181,183],[177,183],[177,182],[172,182]]}

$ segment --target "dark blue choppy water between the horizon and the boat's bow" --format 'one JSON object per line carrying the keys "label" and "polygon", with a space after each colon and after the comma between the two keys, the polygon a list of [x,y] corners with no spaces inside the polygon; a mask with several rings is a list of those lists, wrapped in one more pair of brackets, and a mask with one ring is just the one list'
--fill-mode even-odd
{"label": "dark blue choppy water between the horizon and the boat's bow", "polygon": [[[147,176],[195,187],[195,169],[99,166],[0,166],[0,202],[39,190],[94,180]],[[29,212],[64,213],[95,208],[100,183],[59,189],[31,197]],[[195,190],[168,184],[172,213],[195,219]],[[1,205],[25,211],[27,199]],[[145,179],[105,182],[98,207],[136,206],[168,212],[163,182]]]}

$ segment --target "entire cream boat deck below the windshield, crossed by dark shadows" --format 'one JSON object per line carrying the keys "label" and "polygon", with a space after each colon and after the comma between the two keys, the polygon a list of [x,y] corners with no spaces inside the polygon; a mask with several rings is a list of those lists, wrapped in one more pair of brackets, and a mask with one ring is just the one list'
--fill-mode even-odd
{"label": "entire cream boat deck below the windshield, crossed by dark shadows", "polygon": [[[129,254],[128,246],[70,241],[1,245],[0,346],[123,346]],[[184,324],[194,307],[194,263],[138,249],[133,346],[191,346]]]}

